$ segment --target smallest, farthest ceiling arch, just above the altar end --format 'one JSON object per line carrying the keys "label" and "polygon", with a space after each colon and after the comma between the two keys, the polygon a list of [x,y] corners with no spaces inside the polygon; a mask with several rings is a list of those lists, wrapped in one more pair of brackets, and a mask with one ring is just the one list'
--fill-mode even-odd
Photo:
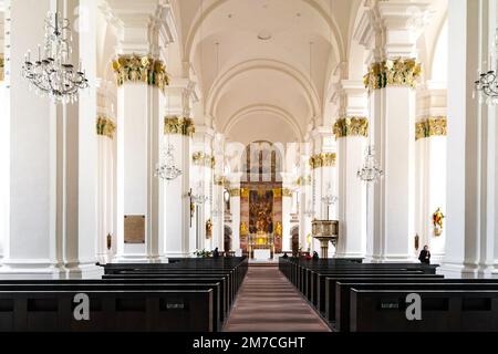
{"label": "smallest, farthest ceiling arch, just above the altar end", "polygon": [[245,118],[245,116],[255,113],[267,113],[283,119],[292,127],[292,131],[295,133],[299,142],[302,142],[303,134],[295,117],[286,110],[270,104],[255,104],[237,111],[221,128],[221,133],[227,135],[234,128],[234,126],[237,125],[237,123]]}

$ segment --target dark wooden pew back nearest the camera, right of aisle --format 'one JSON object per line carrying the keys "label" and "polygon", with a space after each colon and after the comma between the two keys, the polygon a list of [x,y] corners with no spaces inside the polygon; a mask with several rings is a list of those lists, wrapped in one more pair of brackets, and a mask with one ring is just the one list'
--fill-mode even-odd
{"label": "dark wooden pew back nearest the camera, right of aisle", "polygon": [[409,293],[352,289],[351,332],[498,332],[496,290],[419,290],[423,321],[406,320]]}

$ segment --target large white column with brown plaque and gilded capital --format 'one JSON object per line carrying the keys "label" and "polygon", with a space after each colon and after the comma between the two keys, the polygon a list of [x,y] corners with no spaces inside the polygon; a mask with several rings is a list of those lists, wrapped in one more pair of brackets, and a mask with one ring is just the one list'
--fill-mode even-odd
{"label": "large white column with brown plaque and gilded capital", "polygon": [[[163,257],[164,191],[154,169],[163,143],[160,94],[167,84],[158,66],[163,64],[160,44],[174,40],[169,35],[172,22],[167,21],[169,8],[153,0],[137,3],[132,11],[131,2],[111,0],[108,4],[122,25],[117,61],[113,63],[118,84],[116,260],[158,261]],[[142,61],[142,67],[134,67],[135,60]],[[146,77],[153,71],[155,82]],[[144,243],[125,243],[128,218],[144,219]]]}

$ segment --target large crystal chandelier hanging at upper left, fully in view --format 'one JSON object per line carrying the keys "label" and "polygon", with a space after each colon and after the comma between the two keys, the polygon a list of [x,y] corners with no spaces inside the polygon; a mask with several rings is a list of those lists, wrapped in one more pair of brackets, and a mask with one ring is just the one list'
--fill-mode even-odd
{"label": "large crystal chandelier hanging at upper left, fully in view", "polygon": [[77,70],[71,63],[72,41],[71,22],[58,12],[49,12],[45,42],[43,49],[38,45],[38,60],[31,61],[31,51],[24,56],[22,76],[30,81],[30,88],[54,103],[73,103],[80,90],[89,87],[81,62]]}

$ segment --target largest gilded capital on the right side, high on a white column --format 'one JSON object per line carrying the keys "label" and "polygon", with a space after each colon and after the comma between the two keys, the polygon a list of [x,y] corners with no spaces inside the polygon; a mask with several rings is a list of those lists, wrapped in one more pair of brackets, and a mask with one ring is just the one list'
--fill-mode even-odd
{"label": "largest gilded capital on the right side, high on a white column", "polygon": [[387,59],[373,63],[363,83],[369,90],[380,90],[387,86],[406,86],[415,88],[422,75],[422,64],[413,58]]}

